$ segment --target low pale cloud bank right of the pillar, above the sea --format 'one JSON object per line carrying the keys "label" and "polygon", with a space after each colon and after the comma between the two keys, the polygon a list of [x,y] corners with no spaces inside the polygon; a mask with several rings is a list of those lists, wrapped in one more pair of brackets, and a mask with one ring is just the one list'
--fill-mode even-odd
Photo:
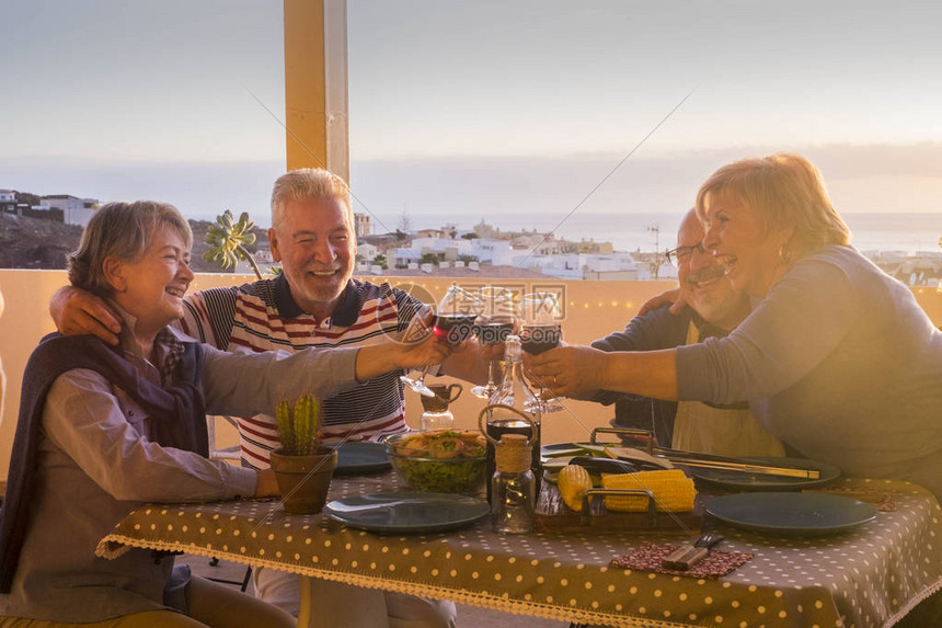
{"label": "low pale cloud bank right of the pillar, above the sea", "polygon": [[[681,212],[716,168],[778,151],[799,152],[814,161],[831,191],[848,196],[839,204],[848,212],[934,212],[942,199],[940,142],[737,146],[656,155],[642,148],[620,167],[624,155],[613,153],[365,160],[354,162],[352,179],[356,197],[380,217],[407,210],[412,216],[447,214],[476,221],[481,216],[525,214],[553,222],[574,209]],[[919,182],[915,187],[914,181]],[[899,202],[887,204],[894,195]]]}

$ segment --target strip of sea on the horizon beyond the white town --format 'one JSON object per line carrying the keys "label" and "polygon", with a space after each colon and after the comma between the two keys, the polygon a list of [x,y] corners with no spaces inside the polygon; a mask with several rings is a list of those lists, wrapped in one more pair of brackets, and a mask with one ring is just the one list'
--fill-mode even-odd
{"label": "strip of sea on the horizon beyond the white town", "polygon": [[[593,214],[575,212],[565,216],[527,215],[485,217],[490,225],[506,230],[555,227],[559,237],[568,240],[609,241],[620,251],[664,251],[676,244],[681,215],[674,214]],[[942,252],[942,209],[938,214],[845,214],[851,230],[851,243],[860,251]],[[460,225],[461,228],[470,226]]]}

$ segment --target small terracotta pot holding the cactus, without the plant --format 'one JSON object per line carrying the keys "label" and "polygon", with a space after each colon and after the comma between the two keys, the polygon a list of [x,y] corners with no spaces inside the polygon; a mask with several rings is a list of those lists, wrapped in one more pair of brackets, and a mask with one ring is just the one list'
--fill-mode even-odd
{"label": "small terracotta pot holding the cactus, without the plant", "polygon": [[301,515],[321,512],[328,501],[331,476],[337,468],[336,449],[321,447],[310,456],[287,456],[283,449],[276,449],[271,456],[285,512]]}

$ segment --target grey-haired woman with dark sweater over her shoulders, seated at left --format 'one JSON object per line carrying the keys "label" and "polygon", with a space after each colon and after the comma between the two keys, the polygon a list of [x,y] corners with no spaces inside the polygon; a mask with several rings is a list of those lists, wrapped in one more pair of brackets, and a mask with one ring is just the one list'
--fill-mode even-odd
{"label": "grey-haired woman with dark sweater over her shoulders, seated at left", "polygon": [[69,260],[70,283],[105,298],[123,329],[116,347],[51,334],[26,366],[0,511],[0,627],[295,626],[279,608],[191,578],[172,556],[104,560],[97,541],[141,502],[277,493],[268,469],[206,458],[207,410],[272,412],[282,398],[330,397],[448,353],[434,339],[294,354],[202,345],[168,327],[193,279],[191,242],[173,206],[112,203]]}

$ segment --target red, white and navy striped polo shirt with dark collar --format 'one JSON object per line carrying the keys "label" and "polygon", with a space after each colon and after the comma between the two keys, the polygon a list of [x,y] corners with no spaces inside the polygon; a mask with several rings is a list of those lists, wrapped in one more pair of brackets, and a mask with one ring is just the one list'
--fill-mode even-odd
{"label": "red, white and navy striped polo shirt with dark collar", "polygon": [[[291,297],[284,275],[231,288],[211,288],[186,297],[181,329],[225,351],[300,351],[309,347],[368,345],[406,329],[422,304],[389,284],[351,279],[341,305],[320,324]],[[376,439],[403,432],[402,372],[386,373],[336,397],[322,400],[325,443]],[[311,374],[317,377],[317,374]],[[275,419],[237,418],[242,465],[268,467],[268,453],[280,446]]]}

